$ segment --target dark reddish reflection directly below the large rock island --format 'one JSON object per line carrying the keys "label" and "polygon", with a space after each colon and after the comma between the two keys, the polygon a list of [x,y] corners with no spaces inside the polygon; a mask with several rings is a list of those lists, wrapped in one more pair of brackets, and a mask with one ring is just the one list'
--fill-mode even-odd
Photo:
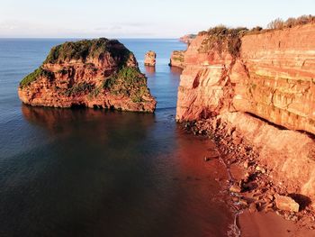
{"label": "dark reddish reflection directly below the large rock island", "polygon": [[[109,133],[135,130],[145,135],[147,129],[154,123],[155,114],[128,113],[103,109],[56,109],[45,107],[31,107],[22,105],[23,116],[33,124],[40,125],[50,132],[60,132],[63,129],[80,129],[76,123],[93,125],[94,132]],[[71,124],[71,126],[68,126]],[[137,124],[137,127],[130,124]],[[85,129],[87,130],[87,128]],[[112,130],[112,131],[111,131]],[[71,131],[75,132],[75,131]],[[69,132],[69,133],[71,133]]]}

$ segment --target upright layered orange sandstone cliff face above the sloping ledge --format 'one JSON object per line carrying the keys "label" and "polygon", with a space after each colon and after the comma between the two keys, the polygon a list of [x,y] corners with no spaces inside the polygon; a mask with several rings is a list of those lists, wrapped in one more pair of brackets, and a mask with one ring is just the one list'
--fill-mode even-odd
{"label": "upright layered orange sandstone cliff face above the sloping ledge", "polygon": [[208,38],[185,53],[177,120],[240,111],[315,134],[315,24],[245,35],[237,58],[204,50]]}

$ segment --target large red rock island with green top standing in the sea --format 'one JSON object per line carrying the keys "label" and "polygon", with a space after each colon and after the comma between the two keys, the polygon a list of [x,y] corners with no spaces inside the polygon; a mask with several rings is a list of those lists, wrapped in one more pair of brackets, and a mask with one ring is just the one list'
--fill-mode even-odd
{"label": "large red rock island with green top standing in the sea", "polygon": [[24,104],[51,107],[85,106],[154,112],[147,78],[130,50],[116,40],[65,42],[18,89]]}

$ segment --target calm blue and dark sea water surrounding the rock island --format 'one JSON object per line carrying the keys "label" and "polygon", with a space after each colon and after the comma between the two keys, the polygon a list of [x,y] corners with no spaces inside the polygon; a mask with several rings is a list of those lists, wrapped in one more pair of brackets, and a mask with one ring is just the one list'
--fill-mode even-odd
{"label": "calm blue and dark sea water surrounding the rock island", "polygon": [[[226,171],[175,123],[176,40],[121,40],[155,114],[22,105],[19,81],[65,40],[0,40],[0,236],[226,236]],[[157,67],[144,68],[147,50]],[[222,180],[220,181],[216,180]]]}

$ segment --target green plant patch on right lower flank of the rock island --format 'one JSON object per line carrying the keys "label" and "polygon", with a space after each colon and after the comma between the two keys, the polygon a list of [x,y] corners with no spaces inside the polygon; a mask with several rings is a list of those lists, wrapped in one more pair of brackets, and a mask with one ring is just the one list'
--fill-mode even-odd
{"label": "green plant patch on right lower flank of the rock island", "polygon": [[103,81],[103,89],[112,95],[130,96],[134,103],[144,102],[143,96],[148,96],[147,78],[140,73],[139,68],[124,67],[117,74]]}

